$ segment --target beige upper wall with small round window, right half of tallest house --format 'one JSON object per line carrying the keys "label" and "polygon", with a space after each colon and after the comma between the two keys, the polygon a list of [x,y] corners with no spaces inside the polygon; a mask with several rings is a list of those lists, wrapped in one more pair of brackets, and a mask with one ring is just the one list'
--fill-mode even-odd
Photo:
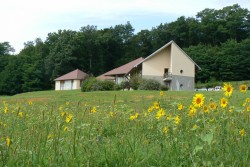
{"label": "beige upper wall with small round window, right half of tallest house", "polygon": [[[175,44],[171,45],[172,74],[187,77],[195,76],[195,65],[189,57]],[[182,70],[182,72],[181,72]]]}

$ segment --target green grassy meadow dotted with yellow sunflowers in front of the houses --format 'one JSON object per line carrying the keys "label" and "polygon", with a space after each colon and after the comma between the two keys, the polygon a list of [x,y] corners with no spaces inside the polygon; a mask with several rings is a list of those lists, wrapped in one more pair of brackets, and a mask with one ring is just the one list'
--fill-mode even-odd
{"label": "green grassy meadow dotted with yellow sunflowers in front of the houses", "polygon": [[250,166],[244,86],[0,97],[0,166]]}

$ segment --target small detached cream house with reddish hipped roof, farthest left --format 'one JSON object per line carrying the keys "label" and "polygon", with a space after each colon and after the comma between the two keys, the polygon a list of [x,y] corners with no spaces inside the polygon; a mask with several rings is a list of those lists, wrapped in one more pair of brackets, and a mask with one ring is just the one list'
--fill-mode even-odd
{"label": "small detached cream house with reddish hipped roof, farthest left", "polygon": [[55,90],[81,89],[82,82],[88,74],[76,69],[55,79]]}

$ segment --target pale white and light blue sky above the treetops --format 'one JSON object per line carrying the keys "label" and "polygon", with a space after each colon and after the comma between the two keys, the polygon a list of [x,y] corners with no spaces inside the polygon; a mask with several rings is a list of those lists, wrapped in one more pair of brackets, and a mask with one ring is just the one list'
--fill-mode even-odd
{"label": "pale white and light blue sky above the treetops", "polygon": [[9,42],[15,54],[24,43],[46,40],[58,30],[79,31],[87,25],[110,28],[128,21],[135,33],[181,16],[195,17],[205,8],[239,4],[250,10],[250,0],[0,0],[0,42]]}

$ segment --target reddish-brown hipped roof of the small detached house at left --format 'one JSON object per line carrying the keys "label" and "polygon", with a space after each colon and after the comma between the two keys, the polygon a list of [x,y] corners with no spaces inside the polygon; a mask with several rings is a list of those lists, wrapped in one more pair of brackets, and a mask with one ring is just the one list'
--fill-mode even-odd
{"label": "reddish-brown hipped roof of the small detached house at left", "polygon": [[62,76],[56,78],[55,81],[70,80],[70,79],[82,80],[86,77],[88,77],[88,74],[86,74],[85,72],[82,72],[79,69],[76,69],[74,71],[71,71],[65,75],[62,75]]}

